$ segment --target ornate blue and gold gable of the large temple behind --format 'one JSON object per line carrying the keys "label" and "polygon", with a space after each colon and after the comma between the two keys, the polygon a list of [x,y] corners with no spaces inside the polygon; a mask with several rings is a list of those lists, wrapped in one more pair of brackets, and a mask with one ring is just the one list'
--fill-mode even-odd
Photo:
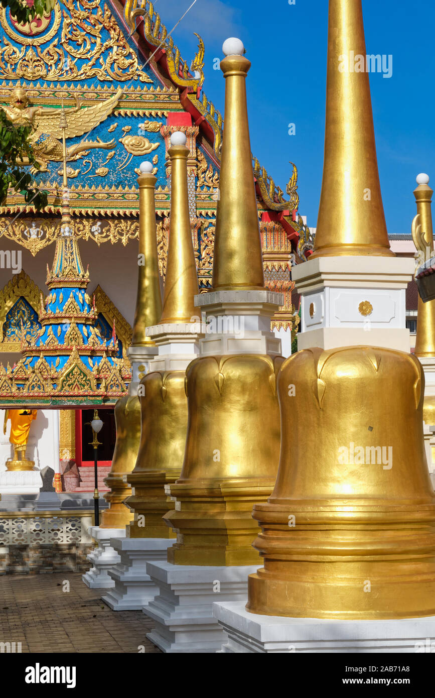
{"label": "ornate blue and gold gable of the large temple behind", "polygon": [[[169,211],[161,128],[170,112],[190,114],[192,126],[199,130],[199,159],[211,172],[199,187],[197,200],[200,207],[215,211],[217,184],[207,184],[218,177],[223,123],[203,89],[205,49],[200,37],[197,54],[188,64],[148,0],[64,0],[32,31],[17,27],[8,8],[0,8],[0,20],[0,102],[13,98],[18,78],[29,105],[45,107],[31,121],[42,165],[35,181],[49,180],[47,213],[56,213],[61,206],[55,186],[61,161],[60,110],[59,116],[47,112],[59,105],[61,97],[70,124],[66,135],[73,215],[137,216],[136,174],[144,157],[155,164],[158,209]],[[144,66],[160,43],[162,47]],[[286,200],[257,158],[252,164],[260,206],[296,210],[296,168]],[[0,213],[21,210],[31,207],[21,195],[12,194]]]}

